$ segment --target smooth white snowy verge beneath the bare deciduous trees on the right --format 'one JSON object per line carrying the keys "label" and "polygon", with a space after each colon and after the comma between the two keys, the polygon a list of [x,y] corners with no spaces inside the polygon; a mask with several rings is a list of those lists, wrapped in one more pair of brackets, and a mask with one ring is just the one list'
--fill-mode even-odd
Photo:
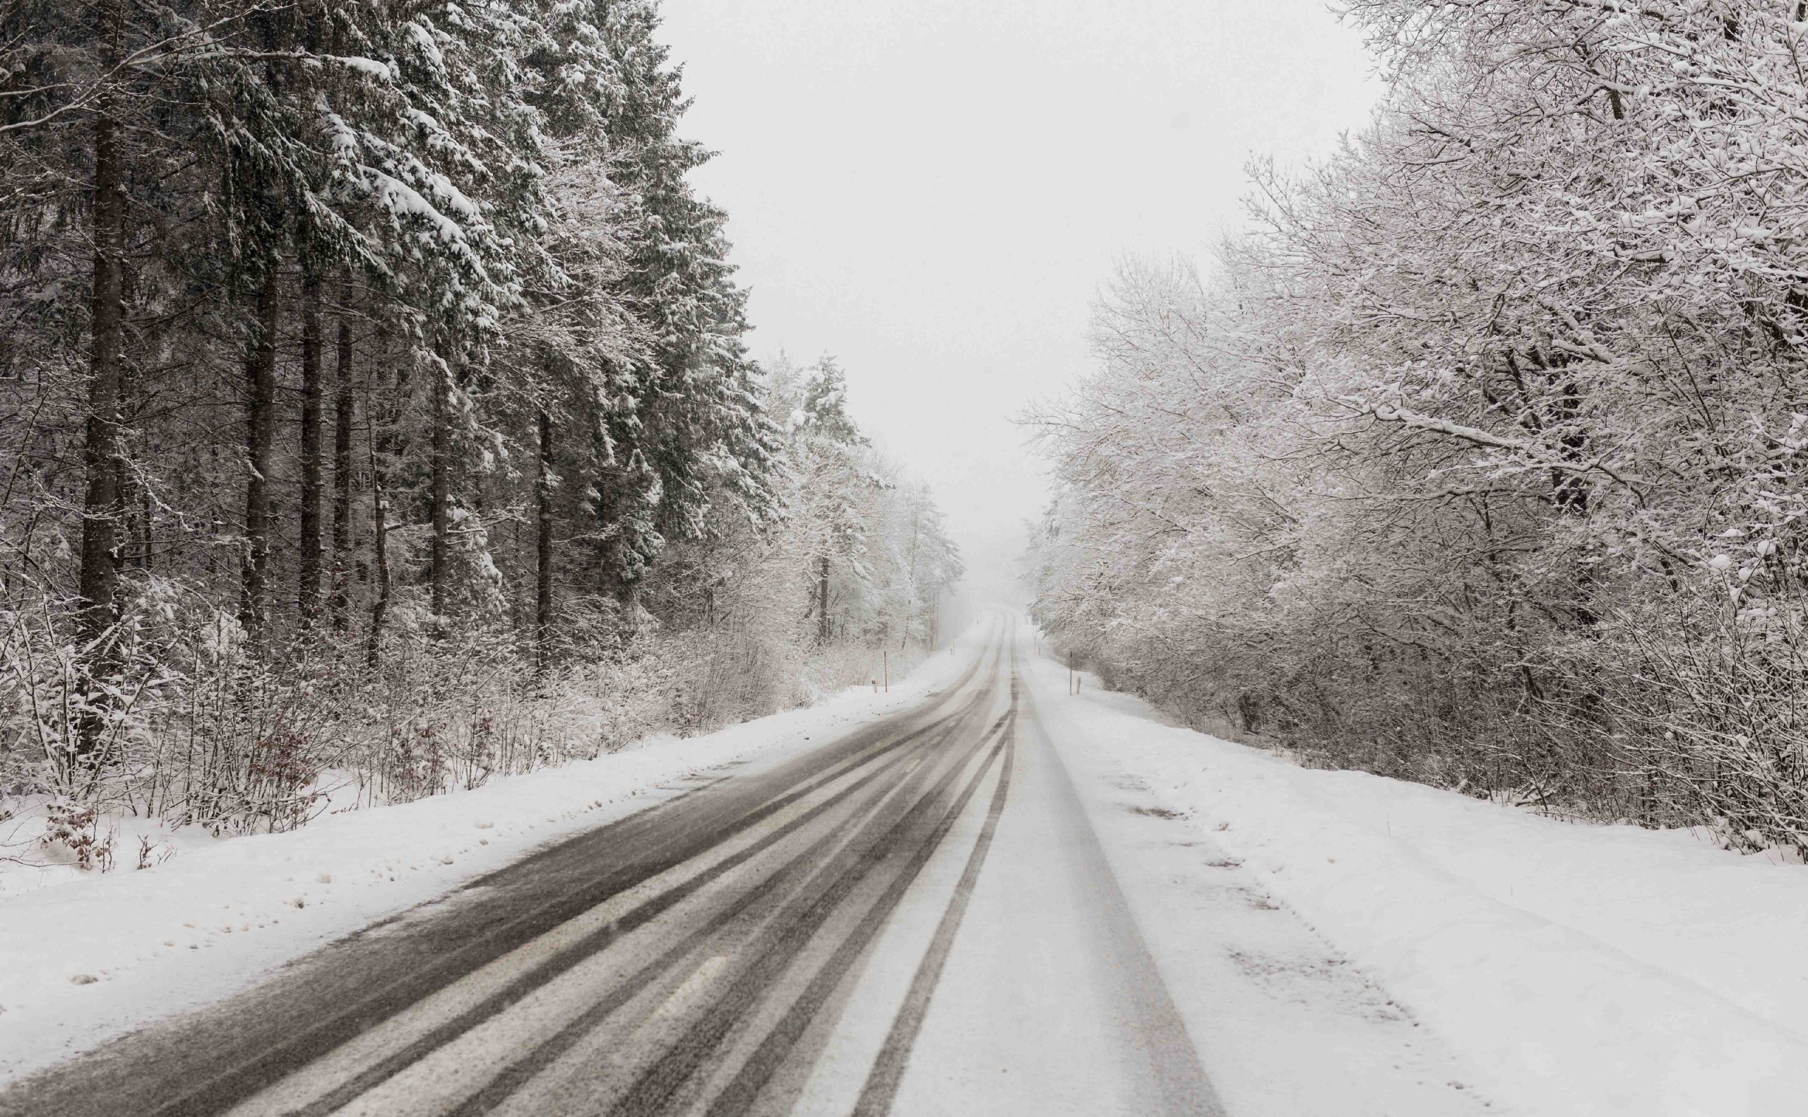
{"label": "smooth white snowy verge beneath the bare deciduous trees on the right", "polygon": [[[1510,1112],[1770,1117],[1808,1097],[1808,869],[1307,770],[1096,689],[1059,732],[1170,808],[1466,1057]],[[1054,712],[1054,710],[1047,710]]]}

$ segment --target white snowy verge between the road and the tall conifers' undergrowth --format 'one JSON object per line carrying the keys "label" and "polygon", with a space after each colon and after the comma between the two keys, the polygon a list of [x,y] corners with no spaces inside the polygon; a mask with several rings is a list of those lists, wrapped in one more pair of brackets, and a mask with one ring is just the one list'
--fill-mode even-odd
{"label": "white snowy verge between the road and the tall conifers' undergrowth", "polygon": [[0,893],[0,1083],[230,996],[537,846],[651,806],[674,781],[777,761],[909,707],[953,681],[984,636],[971,629],[953,654],[931,654],[890,692],[855,687],[720,732],[656,736],[472,792],[329,813],[289,833],[181,831],[177,855],[152,869],[121,864]]}

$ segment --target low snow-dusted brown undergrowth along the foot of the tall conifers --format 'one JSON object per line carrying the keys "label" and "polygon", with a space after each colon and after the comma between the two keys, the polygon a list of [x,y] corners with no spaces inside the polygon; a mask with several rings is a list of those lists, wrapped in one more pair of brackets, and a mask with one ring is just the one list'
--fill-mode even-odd
{"label": "low snow-dusted brown undergrowth along the foot of the tall conifers", "polygon": [[0,754],[0,900],[155,868],[221,835],[461,793],[815,705],[886,674],[902,678],[929,654],[922,643],[810,647],[732,631],[642,634],[627,651],[551,678],[481,640],[432,660],[412,656],[387,674],[322,669],[318,685],[259,696],[251,719],[204,703],[181,718],[141,719],[121,736],[130,746],[80,793],[7,768],[29,765],[33,750]]}

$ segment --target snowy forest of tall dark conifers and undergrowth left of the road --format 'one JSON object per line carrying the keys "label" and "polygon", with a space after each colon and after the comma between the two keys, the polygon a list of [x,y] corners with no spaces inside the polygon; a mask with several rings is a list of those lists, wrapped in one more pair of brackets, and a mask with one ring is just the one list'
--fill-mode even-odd
{"label": "snowy forest of tall dark conifers and undergrowth left of the road", "polygon": [[749,358],[656,25],[0,0],[0,817],[284,828],[937,640],[940,515]]}

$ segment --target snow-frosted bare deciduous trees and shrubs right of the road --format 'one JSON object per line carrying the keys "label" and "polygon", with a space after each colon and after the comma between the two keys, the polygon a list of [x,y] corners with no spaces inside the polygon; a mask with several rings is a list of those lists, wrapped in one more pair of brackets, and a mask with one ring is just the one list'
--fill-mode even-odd
{"label": "snow-frosted bare deciduous trees and shrubs right of the road", "polygon": [[1040,618],[1313,763],[1808,849],[1808,9],[1343,7],[1374,127],[1034,416]]}

